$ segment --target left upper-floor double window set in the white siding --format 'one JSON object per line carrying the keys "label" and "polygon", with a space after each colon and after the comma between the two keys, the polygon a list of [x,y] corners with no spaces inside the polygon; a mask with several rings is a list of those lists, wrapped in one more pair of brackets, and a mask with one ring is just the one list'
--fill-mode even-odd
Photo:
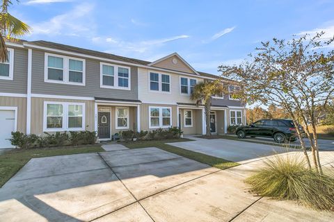
{"label": "left upper-floor double window set in the white siding", "polygon": [[150,72],[150,90],[158,92],[170,92],[170,76]]}

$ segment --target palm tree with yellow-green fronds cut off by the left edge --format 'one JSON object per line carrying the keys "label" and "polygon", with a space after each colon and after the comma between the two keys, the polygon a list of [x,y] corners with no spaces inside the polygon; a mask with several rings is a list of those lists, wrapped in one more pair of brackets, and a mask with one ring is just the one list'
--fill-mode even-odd
{"label": "palm tree with yellow-green fronds cut off by the left edge", "polygon": [[[19,2],[19,0],[16,0]],[[8,6],[12,5],[12,0],[2,0],[1,12],[0,12],[0,62],[8,59],[8,51],[4,38],[8,40],[17,40],[26,33],[29,33],[31,28],[13,17],[8,13]]]}

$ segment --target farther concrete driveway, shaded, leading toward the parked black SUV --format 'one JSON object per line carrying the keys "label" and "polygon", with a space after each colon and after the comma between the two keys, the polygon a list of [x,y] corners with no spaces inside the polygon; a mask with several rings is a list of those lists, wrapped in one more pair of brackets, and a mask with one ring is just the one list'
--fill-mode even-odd
{"label": "farther concrete driveway, shaded, leading toward the parked black SUV", "polygon": [[193,141],[177,142],[170,145],[242,163],[257,157],[266,157],[288,151],[300,151],[293,148],[288,149],[284,146],[255,144],[231,139],[202,139],[198,137],[189,137],[189,139],[193,139]]}

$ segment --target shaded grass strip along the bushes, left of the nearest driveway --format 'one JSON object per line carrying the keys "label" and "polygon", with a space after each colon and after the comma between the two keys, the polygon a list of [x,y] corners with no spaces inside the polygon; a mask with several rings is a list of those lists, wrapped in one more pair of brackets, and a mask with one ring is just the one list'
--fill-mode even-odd
{"label": "shaded grass strip along the bushes, left of the nearest driveway", "polygon": [[100,145],[65,148],[13,149],[0,155],[0,187],[21,169],[31,158],[70,155],[77,153],[95,153],[104,151]]}

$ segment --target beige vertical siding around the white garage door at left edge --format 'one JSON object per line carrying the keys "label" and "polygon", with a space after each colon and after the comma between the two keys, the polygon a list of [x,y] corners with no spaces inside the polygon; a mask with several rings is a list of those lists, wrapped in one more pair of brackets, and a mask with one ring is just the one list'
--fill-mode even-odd
{"label": "beige vertical siding around the white garage door at left edge", "polygon": [[26,98],[0,96],[1,106],[17,107],[17,131],[26,133]]}

